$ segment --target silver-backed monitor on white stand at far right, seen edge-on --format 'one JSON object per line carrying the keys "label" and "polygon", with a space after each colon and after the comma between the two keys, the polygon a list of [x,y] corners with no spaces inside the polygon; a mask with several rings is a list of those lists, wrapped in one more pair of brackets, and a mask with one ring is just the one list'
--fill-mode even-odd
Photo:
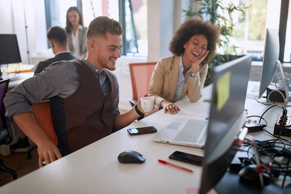
{"label": "silver-backed monitor on white stand at far right, seen edge-on", "polygon": [[[284,72],[279,59],[279,34],[277,30],[268,29],[266,30],[265,36],[265,48],[263,54],[263,64],[260,77],[259,85],[259,98],[263,95],[270,83],[274,79],[276,67],[278,65],[282,79],[285,80]],[[285,81],[284,81],[285,83]],[[289,98],[289,88],[287,90],[286,84],[284,84],[284,90],[286,94],[286,101]]]}

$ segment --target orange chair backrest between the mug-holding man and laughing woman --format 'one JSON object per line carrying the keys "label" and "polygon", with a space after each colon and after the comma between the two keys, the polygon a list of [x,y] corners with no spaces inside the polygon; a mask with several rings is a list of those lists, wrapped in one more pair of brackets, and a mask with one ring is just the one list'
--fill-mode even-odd
{"label": "orange chair backrest between the mug-holding man and laughing woman", "polygon": [[134,100],[137,101],[141,97],[147,95],[149,90],[149,81],[156,64],[156,62],[129,64],[132,98]]}

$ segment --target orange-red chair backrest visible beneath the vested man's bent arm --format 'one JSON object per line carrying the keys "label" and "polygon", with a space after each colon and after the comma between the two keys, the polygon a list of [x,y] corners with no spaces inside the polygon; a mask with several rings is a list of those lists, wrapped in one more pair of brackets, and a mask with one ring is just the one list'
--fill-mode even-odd
{"label": "orange-red chair backrest visible beneath the vested man's bent arm", "polygon": [[57,146],[58,138],[52,125],[49,100],[35,102],[32,104],[31,107],[35,120],[40,125],[40,127],[47,133],[49,139]]}

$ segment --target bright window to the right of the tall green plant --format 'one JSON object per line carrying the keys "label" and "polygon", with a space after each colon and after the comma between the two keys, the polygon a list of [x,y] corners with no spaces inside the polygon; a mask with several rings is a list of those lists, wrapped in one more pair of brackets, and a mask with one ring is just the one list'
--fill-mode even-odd
{"label": "bright window to the right of the tall green plant", "polygon": [[[279,29],[280,3],[277,0],[224,1],[249,6],[242,22],[242,15],[232,15],[237,25],[234,27],[233,37],[230,37],[230,46],[235,47],[237,54],[252,54],[253,61],[262,61],[266,28]],[[233,49],[231,51],[234,53]]]}

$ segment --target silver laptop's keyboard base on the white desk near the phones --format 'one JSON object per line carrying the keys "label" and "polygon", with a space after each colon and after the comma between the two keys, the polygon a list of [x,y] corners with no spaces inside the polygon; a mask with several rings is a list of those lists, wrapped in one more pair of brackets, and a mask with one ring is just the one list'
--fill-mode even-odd
{"label": "silver laptop's keyboard base on the white desk near the phones", "polygon": [[156,142],[183,146],[204,147],[208,119],[174,118],[153,138]]}

